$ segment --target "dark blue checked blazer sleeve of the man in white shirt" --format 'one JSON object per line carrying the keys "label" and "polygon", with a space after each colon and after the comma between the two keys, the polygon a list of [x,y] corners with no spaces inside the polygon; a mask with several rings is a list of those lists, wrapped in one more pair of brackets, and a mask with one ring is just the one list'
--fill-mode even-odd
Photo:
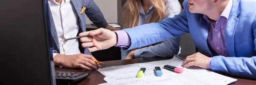
{"label": "dark blue checked blazer sleeve of the man in white shirt", "polygon": [[84,4],[86,7],[84,13],[97,28],[105,28],[108,26],[102,12],[93,0],[84,0]]}

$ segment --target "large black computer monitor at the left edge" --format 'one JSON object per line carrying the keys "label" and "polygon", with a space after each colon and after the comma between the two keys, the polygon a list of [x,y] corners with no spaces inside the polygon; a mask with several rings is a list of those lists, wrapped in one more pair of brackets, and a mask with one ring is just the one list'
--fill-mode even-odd
{"label": "large black computer monitor at the left edge", "polygon": [[0,0],[1,85],[55,84],[47,7],[47,0]]}

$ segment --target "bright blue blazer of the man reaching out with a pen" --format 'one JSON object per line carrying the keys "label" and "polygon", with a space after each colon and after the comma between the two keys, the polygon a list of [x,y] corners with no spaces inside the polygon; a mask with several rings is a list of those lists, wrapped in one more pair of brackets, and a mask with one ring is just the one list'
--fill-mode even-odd
{"label": "bright blue blazer of the man reaching out with a pen", "polygon": [[131,37],[128,50],[190,33],[199,52],[212,57],[213,71],[256,79],[256,0],[233,0],[225,31],[230,57],[213,57],[207,45],[209,23],[203,14],[189,12],[187,0],[183,7],[173,18],[124,29]]}

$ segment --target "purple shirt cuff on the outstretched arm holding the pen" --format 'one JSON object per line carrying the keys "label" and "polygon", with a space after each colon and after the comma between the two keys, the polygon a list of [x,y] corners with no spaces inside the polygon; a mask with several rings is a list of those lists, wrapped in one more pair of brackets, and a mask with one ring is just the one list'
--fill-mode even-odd
{"label": "purple shirt cuff on the outstretched arm holding the pen", "polygon": [[118,41],[115,45],[116,47],[128,48],[131,45],[131,38],[124,30],[114,31],[117,34]]}

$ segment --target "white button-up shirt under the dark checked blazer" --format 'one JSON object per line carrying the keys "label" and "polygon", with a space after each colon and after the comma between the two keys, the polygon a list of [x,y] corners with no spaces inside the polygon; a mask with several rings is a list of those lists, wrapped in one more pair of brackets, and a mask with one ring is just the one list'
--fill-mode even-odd
{"label": "white button-up shirt under the dark checked blazer", "polygon": [[[61,4],[55,0],[48,0],[55,23],[58,40],[60,44],[60,54],[73,55],[80,54],[78,40],[61,40],[76,37],[80,28],[79,18],[70,0],[62,0]],[[52,54],[55,57],[56,53]]]}

